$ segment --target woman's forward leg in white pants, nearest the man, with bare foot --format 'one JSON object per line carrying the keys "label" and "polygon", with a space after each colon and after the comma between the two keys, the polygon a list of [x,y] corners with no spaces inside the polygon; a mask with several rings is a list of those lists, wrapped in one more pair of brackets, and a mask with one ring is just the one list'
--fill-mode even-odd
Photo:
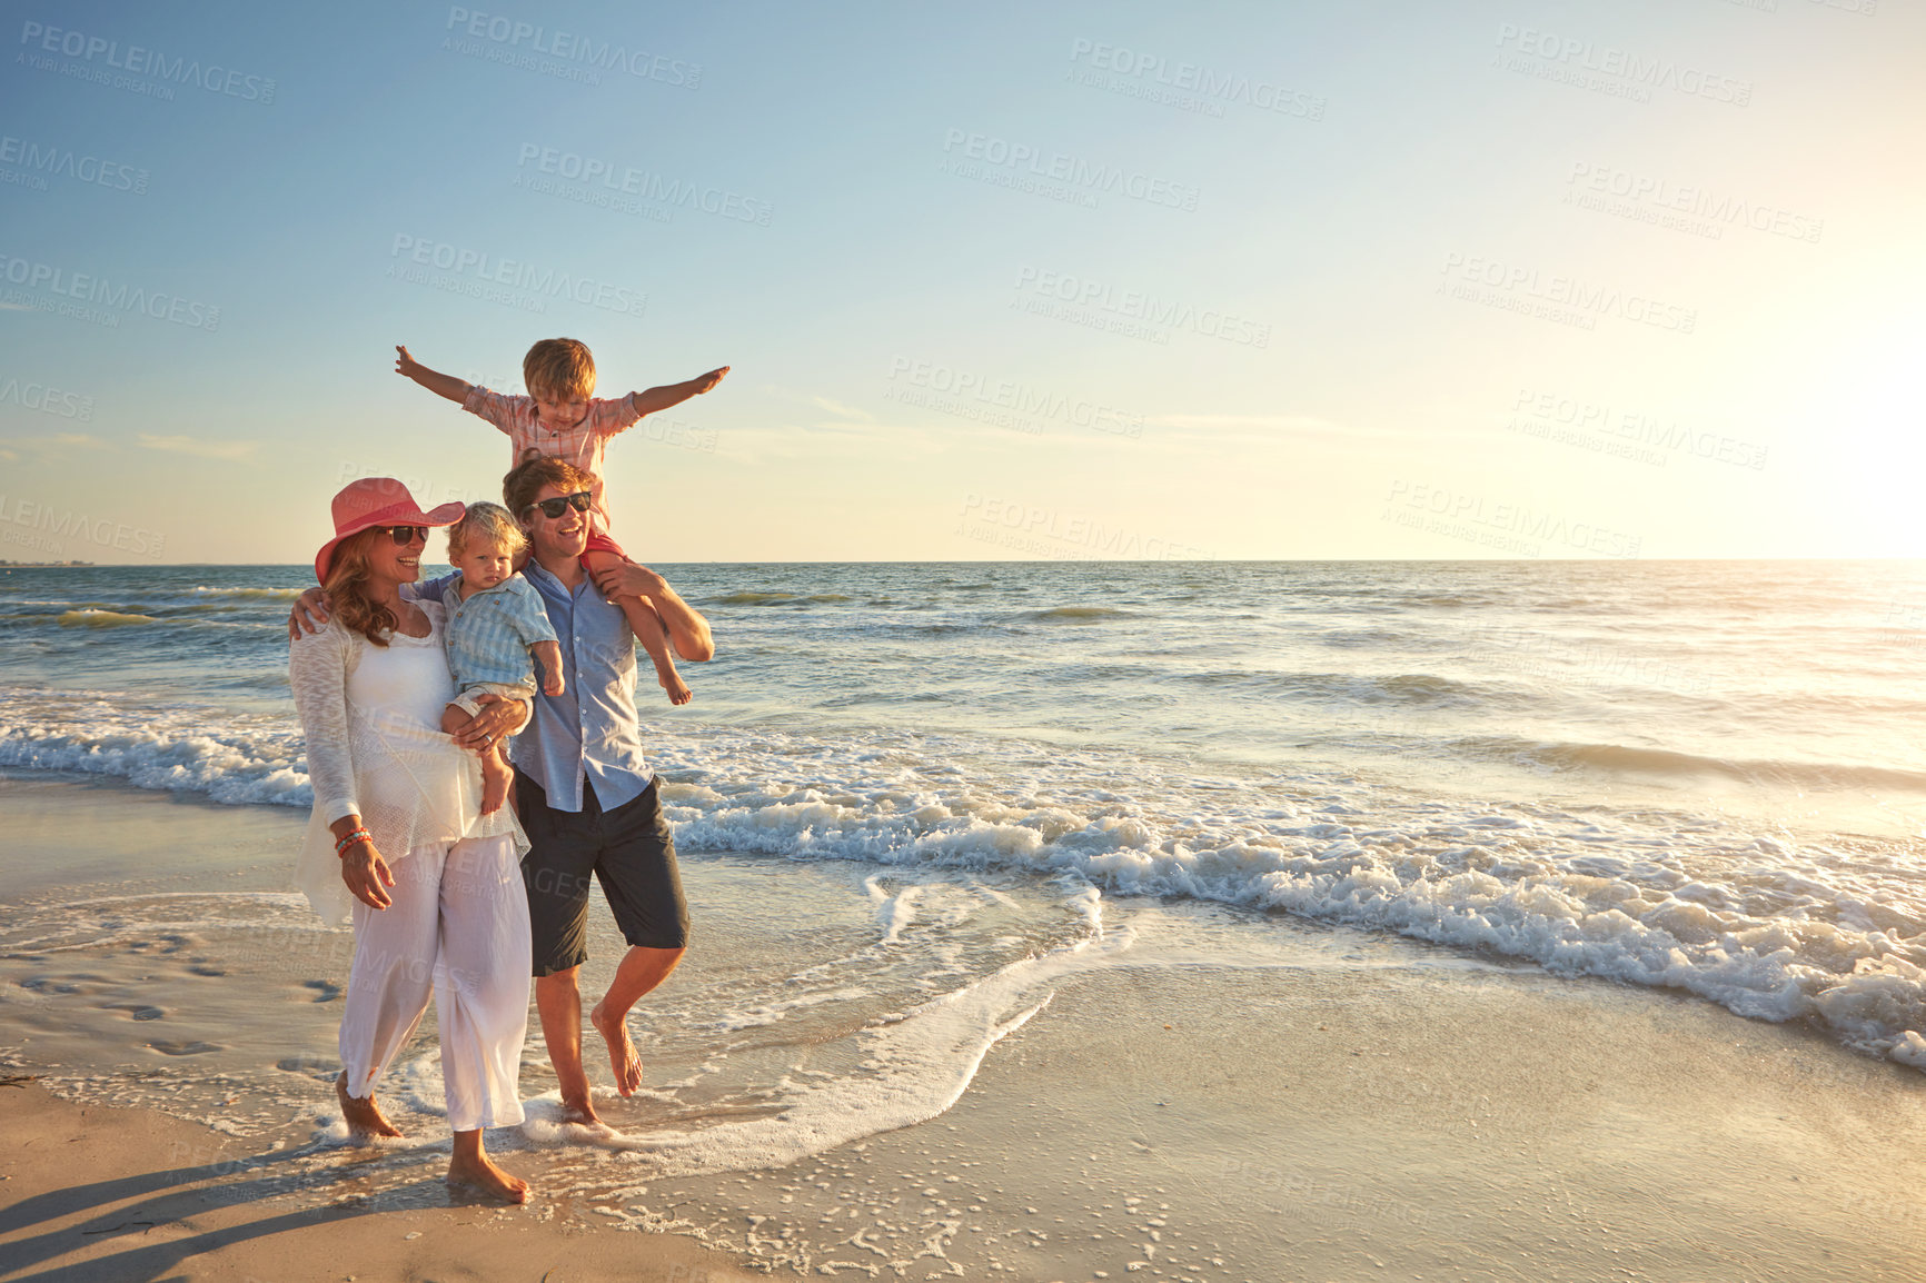
{"label": "woman's forward leg in white pants, nearest the man, with bare foot", "polygon": [[528,1034],[528,892],[510,838],[449,850],[441,875],[441,957],[435,1019],[455,1156],[449,1181],[495,1198],[528,1200],[528,1185],[489,1162],[483,1127],[522,1121],[522,1038]]}

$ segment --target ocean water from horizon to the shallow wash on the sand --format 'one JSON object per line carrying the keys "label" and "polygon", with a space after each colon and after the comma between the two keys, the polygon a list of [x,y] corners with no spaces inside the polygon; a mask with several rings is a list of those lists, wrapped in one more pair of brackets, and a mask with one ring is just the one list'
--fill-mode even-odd
{"label": "ocean water from horizon to the shallow wash on the sand", "polygon": [[[1660,986],[1926,1069],[1918,563],[664,572],[718,642],[684,665],[690,707],[641,699],[718,952],[651,1017],[651,1171],[932,1117],[1063,977],[1152,938],[1265,965],[1304,923]],[[304,815],[304,582],[0,570],[0,771]],[[146,875],[85,903],[0,892],[4,1042],[35,1031],[79,1063],[112,1031],[48,1004],[125,1025],[156,959],[183,984],[277,969],[312,994],[306,1033],[210,1017],[160,1052],[198,1058],[204,1115],[233,1127],[214,1102],[275,1048],[279,1073],[325,1079],[345,936],[293,896],[183,903]]]}

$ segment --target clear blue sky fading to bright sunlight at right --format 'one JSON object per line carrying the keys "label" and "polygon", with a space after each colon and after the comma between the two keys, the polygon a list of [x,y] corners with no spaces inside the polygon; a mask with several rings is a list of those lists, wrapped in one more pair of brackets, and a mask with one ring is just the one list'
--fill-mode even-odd
{"label": "clear blue sky fading to bright sunlight at right", "polygon": [[1918,6],[6,13],[0,559],[493,497],[393,345],[547,335],[734,366],[645,561],[1926,555]]}

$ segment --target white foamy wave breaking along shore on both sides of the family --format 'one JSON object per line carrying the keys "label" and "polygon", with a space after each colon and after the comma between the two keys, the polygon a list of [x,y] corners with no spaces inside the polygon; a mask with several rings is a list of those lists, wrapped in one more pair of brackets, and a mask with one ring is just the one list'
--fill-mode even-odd
{"label": "white foamy wave breaking along shore on both sides of the family", "polygon": [[[907,730],[676,724],[649,753],[688,850],[1287,911],[1803,1019],[1926,1069],[1926,892],[1899,844]],[[291,719],[131,695],[0,692],[0,765],[231,803],[312,798]]]}

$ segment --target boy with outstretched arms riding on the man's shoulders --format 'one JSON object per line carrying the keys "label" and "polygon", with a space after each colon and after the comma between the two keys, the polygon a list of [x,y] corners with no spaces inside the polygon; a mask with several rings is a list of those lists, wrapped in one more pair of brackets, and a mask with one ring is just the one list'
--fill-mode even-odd
{"label": "boy with outstretched arms riding on the man's shoulders", "polygon": [[395,374],[460,403],[470,414],[478,414],[505,432],[514,453],[510,466],[522,464],[532,455],[553,455],[595,478],[589,491],[589,543],[582,553],[582,566],[597,588],[622,607],[630,630],[655,665],[657,682],[668,692],[668,701],[688,703],[693,694],[676,672],[676,661],[668,651],[668,630],[655,613],[655,603],[634,593],[616,595],[611,591],[616,574],[628,563],[628,555],[609,537],[609,509],[603,505],[601,484],[603,447],[609,437],[630,428],[643,414],[666,410],[709,391],[722,381],[728,366],[699,374],[686,383],[668,383],[630,393],[618,401],[601,401],[593,395],[595,356],[589,354],[587,345],[576,339],[543,339],[522,358],[522,383],[530,395],[503,397],[487,387],[429,370],[410,356],[406,347],[395,351],[399,353]]}

